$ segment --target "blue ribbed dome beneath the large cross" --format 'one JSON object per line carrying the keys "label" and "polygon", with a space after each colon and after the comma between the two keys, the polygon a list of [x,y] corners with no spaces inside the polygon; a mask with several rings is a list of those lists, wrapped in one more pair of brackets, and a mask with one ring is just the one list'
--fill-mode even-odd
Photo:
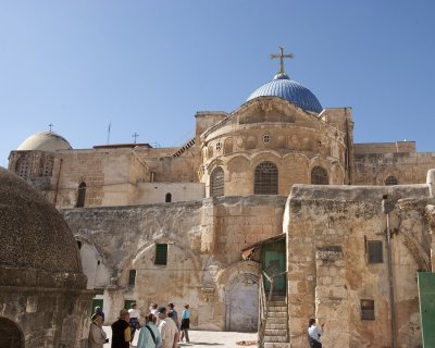
{"label": "blue ribbed dome beneath the large cross", "polygon": [[257,88],[246,101],[258,97],[278,97],[302,110],[320,113],[323,108],[318,98],[301,84],[291,80],[286,73],[278,73],[273,80]]}

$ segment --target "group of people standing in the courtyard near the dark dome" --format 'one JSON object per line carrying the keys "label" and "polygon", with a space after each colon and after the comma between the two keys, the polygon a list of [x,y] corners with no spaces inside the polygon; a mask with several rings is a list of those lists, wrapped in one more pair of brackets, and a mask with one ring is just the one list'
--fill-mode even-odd
{"label": "group of people standing in the courtyard near the dark dome", "polygon": [[[132,303],[129,310],[122,309],[119,319],[111,325],[111,348],[129,348],[136,331],[139,331],[137,348],[176,348],[178,341],[189,341],[190,311],[189,304],[184,306],[181,325],[178,313],[174,303],[159,307],[151,303],[150,312],[145,315],[144,325],[140,323],[142,315],[136,303]],[[89,347],[102,348],[109,341],[102,324],[104,313],[96,307],[92,314],[92,323],[89,330]]]}

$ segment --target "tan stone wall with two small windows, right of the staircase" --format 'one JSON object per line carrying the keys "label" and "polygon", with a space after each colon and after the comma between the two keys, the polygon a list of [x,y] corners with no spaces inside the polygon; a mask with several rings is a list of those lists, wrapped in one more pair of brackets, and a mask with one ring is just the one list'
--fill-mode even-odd
{"label": "tan stone wall with two small windows, right of the staircase", "polygon": [[[390,244],[381,210],[385,196],[393,203]],[[417,271],[430,271],[425,207],[431,201],[427,185],[294,186],[284,217],[291,347],[307,347],[309,318],[325,323],[326,347],[390,347],[390,286],[398,346],[421,345]],[[381,263],[369,262],[369,241],[382,243]],[[365,300],[374,301],[373,320],[362,319]]]}

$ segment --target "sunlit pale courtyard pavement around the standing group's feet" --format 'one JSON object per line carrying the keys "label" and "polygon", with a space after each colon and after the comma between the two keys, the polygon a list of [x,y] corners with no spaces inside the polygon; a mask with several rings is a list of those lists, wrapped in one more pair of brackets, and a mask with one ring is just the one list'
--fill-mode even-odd
{"label": "sunlit pale courtyard pavement around the standing group's feet", "polygon": [[[108,334],[108,337],[111,339],[112,331],[110,326],[104,326],[104,331]],[[136,347],[137,338],[139,337],[139,333],[136,332],[135,339],[133,340],[133,347]],[[187,344],[185,341],[179,343],[179,348],[243,348],[243,347],[252,347],[256,348],[257,345],[243,346],[237,345],[245,340],[246,343],[257,341],[257,333],[247,334],[247,333],[235,333],[235,332],[216,332],[216,331],[189,331],[190,343]],[[110,348],[110,343],[104,345],[104,348]]]}

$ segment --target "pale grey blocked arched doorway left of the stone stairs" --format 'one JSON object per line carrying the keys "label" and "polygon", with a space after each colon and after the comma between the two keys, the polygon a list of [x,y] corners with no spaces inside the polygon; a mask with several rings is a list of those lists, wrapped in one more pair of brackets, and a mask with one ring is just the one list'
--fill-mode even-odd
{"label": "pale grey blocked arched doorway left of the stone stairs", "polygon": [[258,330],[259,277],[244,273],[235,277],[225,291],[225,328],[252,333]]}

